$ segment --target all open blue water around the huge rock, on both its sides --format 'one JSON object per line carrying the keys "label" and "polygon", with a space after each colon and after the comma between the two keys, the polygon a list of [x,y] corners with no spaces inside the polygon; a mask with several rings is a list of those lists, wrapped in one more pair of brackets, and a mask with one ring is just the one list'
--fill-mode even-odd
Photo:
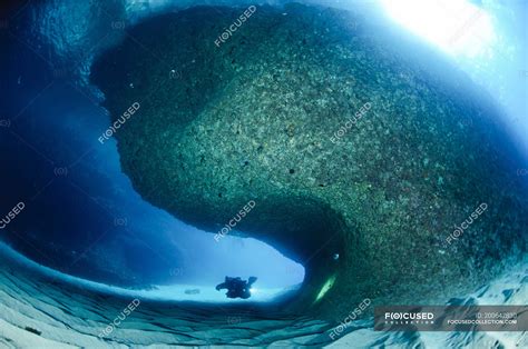
{"label": "all open blue water around the huge rock, on both its sides", "polygon": [[[377,1],[306,2],[383,9]],[[491,14],[500,40],[480,56],[443,53],[501,102],[526,147],[526,2],[470,2]],[[97,140],[109,118],[104,96],[87,83],[94,57],[126,36],[121,27],[199,3],[212,1],[43,1],[2,22],[0,210],[20,201],[26,208],[1,240],[39,263],[109,285],[214,286],[225,275],[256,275],[270,288],[302,281],[302,266],[272,247],[233,236],[216,242],[214,232],[145,202],[120,170],[115,140]]]}

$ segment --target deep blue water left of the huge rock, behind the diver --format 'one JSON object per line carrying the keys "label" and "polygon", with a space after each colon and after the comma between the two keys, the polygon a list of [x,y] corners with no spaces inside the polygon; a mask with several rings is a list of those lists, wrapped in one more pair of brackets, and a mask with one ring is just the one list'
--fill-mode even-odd
{"label": "deep blue water left of the huge rock, behind the diver", "polygon": [[[17,20],[39,10],[28,7]],[[70,16],[53,13],[62,16],[55,24]],[[79,60],[58,53],[68,43],[59,39],[16,28],[2,39],[10,54],[0,58],[0,211],[26,206],[1,230],[2,241],[42,266],[123,287],[214,288],[225,276],[257,276],[263,289],[302,282],[304,268],[273,247],[235,233],[216,241],[216,231],[199,231],[139,197],[115,140],[98,141],[109,118],[82,70],[97,49]]]}

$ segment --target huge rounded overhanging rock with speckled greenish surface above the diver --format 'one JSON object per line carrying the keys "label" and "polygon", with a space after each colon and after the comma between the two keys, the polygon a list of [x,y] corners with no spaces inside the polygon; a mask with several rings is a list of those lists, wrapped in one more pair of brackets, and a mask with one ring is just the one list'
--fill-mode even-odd
{"label": "huge rounded overhanging rock with speckled greenish surface above the diver", "polygon": [[140,104],[115,136],[146,200],[214,233],[253,200],[229,233],[302,262],[293,309],[332,318],[457,295],[526,248],[516,150],[459,71],[297,4],[256,7],[215,43],[244,10],[150,19],[94,68],[114,120]]}

